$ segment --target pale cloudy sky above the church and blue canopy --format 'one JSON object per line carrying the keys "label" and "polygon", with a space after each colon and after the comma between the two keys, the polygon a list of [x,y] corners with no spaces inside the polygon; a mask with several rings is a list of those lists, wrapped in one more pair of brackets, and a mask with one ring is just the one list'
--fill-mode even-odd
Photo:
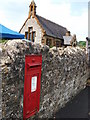
{"label": "pale cloudy sky above the church and blue canopy", "polygon": [[[19,31],[32,0],[0,0],[0,23]],[[88,0],[34,0],[37,14],[66,27],[82,41],[88,36]]]}

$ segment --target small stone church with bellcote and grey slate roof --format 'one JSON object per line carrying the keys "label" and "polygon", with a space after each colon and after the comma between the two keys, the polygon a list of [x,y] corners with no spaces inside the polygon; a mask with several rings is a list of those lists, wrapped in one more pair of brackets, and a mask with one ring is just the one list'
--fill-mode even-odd
{"label": "small stone church with bellcote and grey slate roof", "polygon": [[63,36],[68,34],[65,27],[58,25],[36,14],[36,4],[32,0],[29,6],[29,15],[24,22],[20,33],[25,34],[25,38],[39,44],[61,46],[64,43]]}

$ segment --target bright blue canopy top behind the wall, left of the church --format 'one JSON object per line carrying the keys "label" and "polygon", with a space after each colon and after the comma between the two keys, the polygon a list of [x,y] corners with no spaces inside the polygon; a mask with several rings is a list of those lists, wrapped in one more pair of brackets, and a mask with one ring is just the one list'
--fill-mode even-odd
{"label": "bright blue canopy top behind the wall, left of the church", "polygon": [[24,39],[24,35],[0,24],[0,39]]}

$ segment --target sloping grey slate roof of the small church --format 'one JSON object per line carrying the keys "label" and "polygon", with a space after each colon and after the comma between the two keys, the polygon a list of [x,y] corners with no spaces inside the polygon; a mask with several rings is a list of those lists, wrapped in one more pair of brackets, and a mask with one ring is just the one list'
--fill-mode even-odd
{"label": "sloping grey slate roof of the small church", "polygon": [[43,29],[46,31],[46,35],[63,39],[63,36],[65,36],[67,29],[63,26],[60,26],[50,20],[47,20],[39,15],[36,15],[38,18],[40,24],[42,25]]}

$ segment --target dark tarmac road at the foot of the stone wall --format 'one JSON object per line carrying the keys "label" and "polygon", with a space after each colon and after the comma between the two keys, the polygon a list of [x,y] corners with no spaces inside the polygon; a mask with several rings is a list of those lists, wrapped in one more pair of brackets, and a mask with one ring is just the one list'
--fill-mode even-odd
{"label": "dark tarmac road at the foot of the stone wall", "polygon": [[90,120],[90,87],[82,90],[73,100],[59,110],[55,118],[61,120]]}

